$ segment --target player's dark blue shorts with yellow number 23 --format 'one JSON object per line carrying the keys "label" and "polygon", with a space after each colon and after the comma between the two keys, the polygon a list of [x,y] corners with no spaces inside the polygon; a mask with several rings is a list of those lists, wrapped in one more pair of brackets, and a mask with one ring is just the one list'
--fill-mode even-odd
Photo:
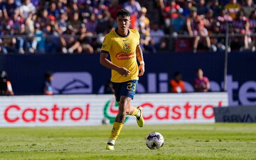
{"label": "player's dark blue shorts with yellow number 23", "polygon": [[116,101],[120,101],[121,96],[127,96],[131,97],[133,99],[133,96],[135,95],[136,88],[138,85],[138,80],[130,80],[126,82],[116,83],[111,82],[114,89],[114,95],[116,97]]}

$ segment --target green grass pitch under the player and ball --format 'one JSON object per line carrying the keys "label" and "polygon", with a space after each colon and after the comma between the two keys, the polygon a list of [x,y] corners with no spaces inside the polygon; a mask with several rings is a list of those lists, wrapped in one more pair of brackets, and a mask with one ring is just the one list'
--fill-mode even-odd
{"label": "green grass pitch under the player and ball", "polygon": [[[1,160],[256,160],[255,123],[124,125],[114,151],[106,150],[112,125],[0,128]],[[148,133],[165,144],[150,150]]]}

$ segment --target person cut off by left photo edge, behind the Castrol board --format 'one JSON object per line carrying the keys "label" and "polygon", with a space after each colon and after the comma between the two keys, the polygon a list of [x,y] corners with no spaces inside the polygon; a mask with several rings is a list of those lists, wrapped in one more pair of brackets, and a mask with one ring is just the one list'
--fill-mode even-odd
{"label": "person cut off by left photo edge, behind the Castrol board", "polygon": [[14,92],[12,91],[12,85],[11,82],[8,80],[6,71],[0,72],[0,95],[14,95]]}

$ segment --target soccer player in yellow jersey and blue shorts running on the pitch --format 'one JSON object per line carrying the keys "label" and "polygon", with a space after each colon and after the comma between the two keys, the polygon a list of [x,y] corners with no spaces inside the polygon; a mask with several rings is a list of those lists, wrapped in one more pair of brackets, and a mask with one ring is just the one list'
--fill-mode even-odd
{"label": "soccer player in yellow jersey and blue shorts running on the pitch", "polygon": [[[139,127],[144,125],[143,108],[131,105],[139,76],[142,76],[145,71],[142,49],[139,45],[140,35],[136,29],[129,29],[131,16],[126,9],[117,11],[116,23],[118,28],[105,36],[100,55],[100,63],[112,69],[111,83],[119,105],[106,147],[109,150],[114,150],[115,141],[123,127],[126,115],[136,116]],[[108,55],[111,61],[108,60]],[[137,59],[140,62],[139,67]]]}

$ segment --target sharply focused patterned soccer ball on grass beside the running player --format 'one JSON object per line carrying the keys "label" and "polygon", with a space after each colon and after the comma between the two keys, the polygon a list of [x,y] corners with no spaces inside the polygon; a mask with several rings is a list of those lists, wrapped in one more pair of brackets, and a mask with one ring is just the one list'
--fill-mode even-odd
{"label": "sharply focused patterned soccer ball on grass beside the running player", "polygon": [[159,149],[163,147],[163,136],[159,132],[151,132],[146,137],[146,145],[149,149]]}

